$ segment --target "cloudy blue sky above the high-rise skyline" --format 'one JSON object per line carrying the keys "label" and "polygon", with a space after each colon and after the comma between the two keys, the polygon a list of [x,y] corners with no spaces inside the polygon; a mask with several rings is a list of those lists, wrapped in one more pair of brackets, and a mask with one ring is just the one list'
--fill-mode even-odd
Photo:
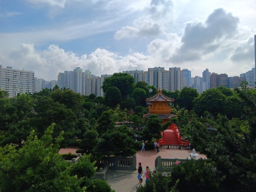
{"label": "cloudy blue sky above the high-rise skyline", "polygon": [[80,67],[113,74],[254,67],[255,0],[0,0],[0,65],[46,80]]}

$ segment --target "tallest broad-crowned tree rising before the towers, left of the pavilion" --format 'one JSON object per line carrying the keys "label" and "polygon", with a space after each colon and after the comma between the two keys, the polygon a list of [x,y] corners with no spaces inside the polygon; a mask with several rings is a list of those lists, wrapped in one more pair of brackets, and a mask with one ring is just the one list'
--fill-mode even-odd
{"label": "tallest broad-crowned tree rising before the towers, left of the pavilion", "polygon": [[128,98],[132,94],[135,86],[135,79],[128,73],[114,73],[113,76],[107,77],[102,85],[102,90],[106,93],[109,87],[117,87],[122,98]]}

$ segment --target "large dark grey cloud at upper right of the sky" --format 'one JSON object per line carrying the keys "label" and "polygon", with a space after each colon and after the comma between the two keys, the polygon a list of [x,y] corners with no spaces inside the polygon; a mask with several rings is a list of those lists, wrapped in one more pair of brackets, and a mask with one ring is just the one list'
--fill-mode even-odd
{"label": "large dark grey cloud at upper right of the sky", "polygon": [[193,61],[217,50],[221,43],[237,33],[239,18],[224,9],[215,9],[205,22],[193,19],[185,23],[181,46],[170,58],[173,62]]}

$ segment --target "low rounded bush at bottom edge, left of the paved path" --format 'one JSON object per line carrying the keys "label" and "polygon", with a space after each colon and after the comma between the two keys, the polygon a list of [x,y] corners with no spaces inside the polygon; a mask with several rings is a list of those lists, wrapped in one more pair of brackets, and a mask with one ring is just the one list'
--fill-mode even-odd
{"label": "low rounded bush at bottom edge, left of the paved path", "polygon": [[114,192],[114,190],[111,189],[109,184],[101,179],[92,180],[91,183],[88,185],[87,191]]}

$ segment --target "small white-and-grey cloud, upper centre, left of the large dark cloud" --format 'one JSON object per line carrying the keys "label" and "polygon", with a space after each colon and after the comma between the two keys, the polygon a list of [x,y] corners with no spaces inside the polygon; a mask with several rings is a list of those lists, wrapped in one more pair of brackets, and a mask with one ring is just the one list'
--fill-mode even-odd
{"label": "small white-and-grey cloud, upper centre, left of the large dark cloud", "polygon": [[161,24],[149,18],[140,18],[134,20],[133,27],[122,27],[121,30],[115,33],[114,38],[120,40],[133,37],[157,36],[162,34],[163,31]]}

